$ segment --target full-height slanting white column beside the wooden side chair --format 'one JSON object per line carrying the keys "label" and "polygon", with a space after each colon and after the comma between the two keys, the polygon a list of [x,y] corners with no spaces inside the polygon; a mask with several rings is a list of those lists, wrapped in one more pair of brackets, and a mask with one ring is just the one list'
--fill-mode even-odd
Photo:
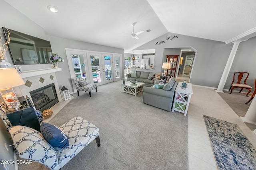
{"label": "full-height slanting white column beside the wooden side chair", "polygon": [[238,45],[239,45],[240,42],[242,42],[242,41],[233,42],[234,44],[233,44],[232,50],[231,50],[230,55],[228,57],[228,61],[226,63],[226,66],[225,66],[224,71],[222,73],[222,76],[220,78],[220,83],[218,85],[218,88],[217,88],[216,92],[223,93],[223,88],[224,88],[225,83],[227,81],[228,73],[230,72],[230,68],[231,68],[232,63],[234,61],[236,51],[238,49]]}

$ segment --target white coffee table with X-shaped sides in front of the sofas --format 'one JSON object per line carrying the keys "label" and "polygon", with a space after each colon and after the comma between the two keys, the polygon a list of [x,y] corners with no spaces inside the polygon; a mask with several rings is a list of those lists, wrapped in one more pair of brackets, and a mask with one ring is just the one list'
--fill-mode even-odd
{"label": "white coffee table with X-shaped sides in front of the sofas", "polygon": [[136,96],[138,92],[141,92],[145,83],[142,82],[136,82],[131,83],[130,81],[126,82],[125,84],[122,84],[122,92],[132,94]]}

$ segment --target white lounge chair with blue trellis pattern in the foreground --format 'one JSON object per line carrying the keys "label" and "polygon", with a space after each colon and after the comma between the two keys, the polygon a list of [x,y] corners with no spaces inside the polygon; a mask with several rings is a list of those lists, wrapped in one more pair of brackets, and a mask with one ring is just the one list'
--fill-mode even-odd
{"label": "white lounge chair with blue trellis pattern in the foreground", "polygon": [[26,126],[14,126],[10,134],[20,158],[34,160],[52,170],[59,170],[94,139],[100,147],[99,129],[81,117],[74,117],[59,127],[68,136],[68,147],[52,147],[42,133]]}

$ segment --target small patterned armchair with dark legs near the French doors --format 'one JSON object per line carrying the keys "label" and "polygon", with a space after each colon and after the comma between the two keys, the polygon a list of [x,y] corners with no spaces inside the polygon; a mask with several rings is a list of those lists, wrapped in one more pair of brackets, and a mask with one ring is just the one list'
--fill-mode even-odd
{"label": "small patterned armchair with dark legs near the French doors", "polygon": [[96,92],[98,92],[96,84],[87,83],[82,77],[72,78],[72,82],[76,86],[77,96],[79,96],[79,91],[89,92],[90,97],[92,97],[91,91],[93,89],[96,89]]}

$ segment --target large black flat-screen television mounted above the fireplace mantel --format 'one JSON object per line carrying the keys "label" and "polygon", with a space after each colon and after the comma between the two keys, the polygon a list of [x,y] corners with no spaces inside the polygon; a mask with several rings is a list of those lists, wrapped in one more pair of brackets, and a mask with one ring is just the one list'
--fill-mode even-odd
{"label": "large black flat-screen television mounted above the fireplace mantel", "polygon": [[52,48],[50,41],[33,37],[12,29],[3,27],[7,40],[10,30],[9,51],[14,65],[52,63]]}

